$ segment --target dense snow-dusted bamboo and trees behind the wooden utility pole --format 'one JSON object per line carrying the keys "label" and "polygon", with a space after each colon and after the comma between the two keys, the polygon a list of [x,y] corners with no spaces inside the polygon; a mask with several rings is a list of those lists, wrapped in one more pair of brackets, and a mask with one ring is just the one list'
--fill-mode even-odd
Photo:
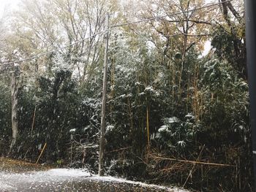
{"label": "dense snow-dusted bamboo and trees behind the wooden utility pole", "polygon": [[[29,8],[37,4],[29,4],[16,15],[23,19],[18,26],[26,27],[23,37],[19,28],[5,41],[15,47],[20,58],[47,51],[48,46],[72,43],[84,37],[84,28],[95,34],[103,27],[107,9],[114,10],[120,20],[125,17],[113,1],[108,5],[84,1],[87,7],[102,11],[96,18],[89,18],[88,12],[75,9],[75,5],[56,2],[49,13],[47,2],[40,4],[50,25],[39,22],[42,15]],[[29,20],[31,17],[34,20]],[[186,26],[184,20],[178,23]],[[228,33],[225,21],[221,27],[211,24],[208,31],[213,34],[208,39],[214,49],[206,56],[201,55],[201,37],[168,36],[174,24],[166,20],[159,21],[159,28],[154,25],[114,29],[110,34],[105,173],[201,191],[251,191],[248,85],[246,73],[241,71],[245,50],[244,36],[239,33],[244,31],[243,25],[233,22],[236,33]],[[63,27],[64,33],[58,27]],[[46,40],[38,37],[41,32]],[[13,39],[19,39],[19,44]],[[240,57],[234,56],[234,42]],[[101,36],[93,37],[58,54],[20,64],[19,138],[9,155],[36,161],[47,143],[40,162],[97,172],[102,45]],[[3,60],[10,47],[1,48]],[[12,59],[17,58],[13,54]],[[1,155],[7,155],[12,137],[9,74],[8,68],[1,71]]]}

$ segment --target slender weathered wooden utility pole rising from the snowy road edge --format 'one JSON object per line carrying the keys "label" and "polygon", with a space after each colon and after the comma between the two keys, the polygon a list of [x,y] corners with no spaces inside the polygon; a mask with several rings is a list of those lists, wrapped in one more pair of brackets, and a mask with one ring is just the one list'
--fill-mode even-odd
{"label": "slender weathered wooden utility pole rising from the snowy road edge", "polygon": [[107,77],[108,77],[108,37],[109,37],[109,15],[105,18],[105,55],[103,64],[103,88],[102,88],[102,118],[100,124],[99,137],[99,176],[103,174],[104,150],[105,150],[105,111],[107,97]]}

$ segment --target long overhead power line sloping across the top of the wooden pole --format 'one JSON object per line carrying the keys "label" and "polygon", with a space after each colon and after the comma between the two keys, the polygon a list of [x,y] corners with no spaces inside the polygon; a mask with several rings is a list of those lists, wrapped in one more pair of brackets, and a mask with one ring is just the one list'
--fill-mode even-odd
{"label": "long overhead power line sloping across the top of the wooden pole", "polygon": [[[110,27],[109,27],[109,28],[110,28],[109,30],[111,30],[111,28],[116,28],[116,27],[120,27],[120,26],[128,26],[128,25],[135,24],[135,23],[143,23],[143,22],[147,22],[147,21],[150,21],[150,20],[157,20],[157,19],[161,19],[161,18],[173,17],[173,16],[175,16],[175,15],[181,15],[181,14],[186,13],[186,12],[194,12],[194,11],[197,11],[197,10],[200,10],[200,9],[206,9],[206,8],[209,8],[209,7],[215,7],[215,6],[219,5],[219,4],[225,4],[225,3],[230,2],[230,1],[233,1],[233,0],[229,0],[229,1],[225,1],[225,2],[219,2],[219,3],[217,3],[217,4],[208,4],[208,5],[203,6],[203,7],[198,7],[198,8],[195,8],[195,9],[189,9],[189,10],[184,11],[184,12],[176,12],[176,13],[173,13],[173,14],[170,14],[170,15],[163,15],[163,16],[159,16],[159,17],[147,18],[147,19],[137,20],[137,21],[132,21],[132,22],[127,22],[127,23],[119,23],[119,24],[110,26]],[[73,42],[73,43],[71,43],[71,44],[69,44],[69,45],[65,45],[64,47],[59,47],[59,48],[57,48],[57,49],[55,49],[55,50],[50,50],[50,51],[45,52],[45,53],[40,53],[40,54],[38,54],[38,55],[34,55],[34,56],[29,57],[29,58],[23,58],[23,59],[20,59],[20,60],[17,60],[17,61],[10,61],[10,62],[7,62],[7,63],[2,63],[1,66],[10,65],[10,64],[18,64],[18,63],[22,63],[22,62],[24,62],[24,61],[29,61],[29,60],[34,59],[34,58],[39,58],[39,57],[42,57],[42,56],[44,56],[44,55],[48,55],[48,54],[50,54],[50,53],[54,53],[54,52],[56,52],[56,51],[58,51],[58,50],[63,50],[63,49],[65,49],[65,48],[67,48],[67,47],[70,47],[70,46],[72,46],[72,45],[76,45],[76,44],[78,44],[79,42],[86,41],[87,39],[91,39],[91,37],[96,37],[97,35],[102,34],[102,33],[105,33],[105,32],[106,32],[106,30],[104,30],[104,31],[99,31],[98,33],[93,34],[93,35],[91,35],[90,37],[86,37],[86,38],[84,38],[84,39],[80,39],[79,41]]]}

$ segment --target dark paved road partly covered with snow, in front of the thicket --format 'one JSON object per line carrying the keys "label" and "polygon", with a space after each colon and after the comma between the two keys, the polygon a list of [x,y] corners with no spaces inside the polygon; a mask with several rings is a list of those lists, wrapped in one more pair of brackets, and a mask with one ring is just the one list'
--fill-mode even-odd
{"label": "dark paved road partly covered with snow, in front of the thicket", "polygon": [[0,172],[0,191],[172,191],[178,188],[132,182],[114,177],[98,177],[79,169],[50,169],[41,172]]}

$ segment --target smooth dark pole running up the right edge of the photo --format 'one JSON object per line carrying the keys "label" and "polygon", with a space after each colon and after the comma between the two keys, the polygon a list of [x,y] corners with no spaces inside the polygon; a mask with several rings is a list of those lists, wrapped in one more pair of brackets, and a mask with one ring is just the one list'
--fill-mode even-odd
{"label": "smooth dark pole running up the right edge of the photo", "polygon": [[256,188],[256,1],[244,0],[246,11],[246,53],[249,82],[252,155]]}

